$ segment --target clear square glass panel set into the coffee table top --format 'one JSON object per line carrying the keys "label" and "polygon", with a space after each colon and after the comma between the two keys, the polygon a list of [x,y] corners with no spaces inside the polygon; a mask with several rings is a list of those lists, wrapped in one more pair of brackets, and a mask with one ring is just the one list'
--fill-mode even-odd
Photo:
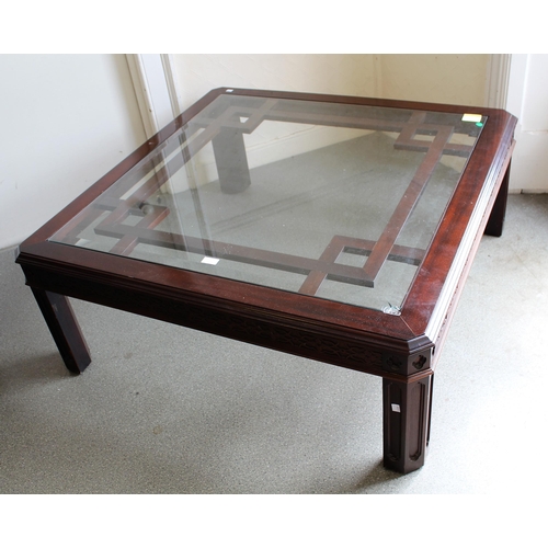
{"label": "clear square glass panel set into the coffee table top", "polygon": [[49,240],[398,315],[486,121],[227,90]]}

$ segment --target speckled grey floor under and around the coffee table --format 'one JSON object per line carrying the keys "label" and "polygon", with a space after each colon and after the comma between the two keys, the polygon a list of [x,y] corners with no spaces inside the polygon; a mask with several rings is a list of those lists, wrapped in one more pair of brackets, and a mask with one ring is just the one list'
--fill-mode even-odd
{"label": "speckled grey floor under and around the coffee table", "polygon": [[[73,301],[64,367],[0,252],[1,493],[487,493],[546,487],[548,195],[511,195],[439,365],[426,465],[381,465],[380,379]],[[538,460],[540,458],[540,461]]]}

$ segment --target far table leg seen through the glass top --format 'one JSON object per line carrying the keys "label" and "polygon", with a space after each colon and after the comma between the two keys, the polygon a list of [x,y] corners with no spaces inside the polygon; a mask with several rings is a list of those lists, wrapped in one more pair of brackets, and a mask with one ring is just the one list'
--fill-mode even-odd
{"label": "far table leg seen through the glass top", "polygon": [[243,134],[238,129],[222,128],[212,144],[222,192],[236,194],[244,191],[251,179]]}

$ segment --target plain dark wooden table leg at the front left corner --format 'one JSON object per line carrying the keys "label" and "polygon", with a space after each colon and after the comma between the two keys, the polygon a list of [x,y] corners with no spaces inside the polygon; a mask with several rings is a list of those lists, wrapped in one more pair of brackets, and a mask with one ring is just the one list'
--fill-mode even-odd
{"label": "plain dark wooden table leg at the front left corner", "polygon": [[32,290],[67,369],[82,373],[91,363],[90,351],[68,298],[34,287]]}

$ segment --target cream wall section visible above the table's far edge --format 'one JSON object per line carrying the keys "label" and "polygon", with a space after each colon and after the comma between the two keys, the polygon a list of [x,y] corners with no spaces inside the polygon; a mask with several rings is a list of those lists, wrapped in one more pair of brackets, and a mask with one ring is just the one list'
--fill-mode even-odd
{"label": "cream wall section visible above the table's far edge", "polygon": [[214,88],[486,105],[490,55],[174,55],[184,107]]}

